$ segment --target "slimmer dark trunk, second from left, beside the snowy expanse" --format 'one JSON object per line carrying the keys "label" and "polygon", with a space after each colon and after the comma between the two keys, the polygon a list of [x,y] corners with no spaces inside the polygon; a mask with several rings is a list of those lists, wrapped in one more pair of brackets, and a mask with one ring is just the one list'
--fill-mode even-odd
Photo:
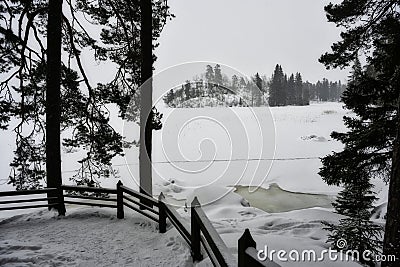
{"label": "slimmer dark trunk, second from left, beside the snowy expanse", "polygon": [[[151,0],[141,0],[140,192],[152,196],[153,31]],[[146,203],[151,206],[150,203]]]}

